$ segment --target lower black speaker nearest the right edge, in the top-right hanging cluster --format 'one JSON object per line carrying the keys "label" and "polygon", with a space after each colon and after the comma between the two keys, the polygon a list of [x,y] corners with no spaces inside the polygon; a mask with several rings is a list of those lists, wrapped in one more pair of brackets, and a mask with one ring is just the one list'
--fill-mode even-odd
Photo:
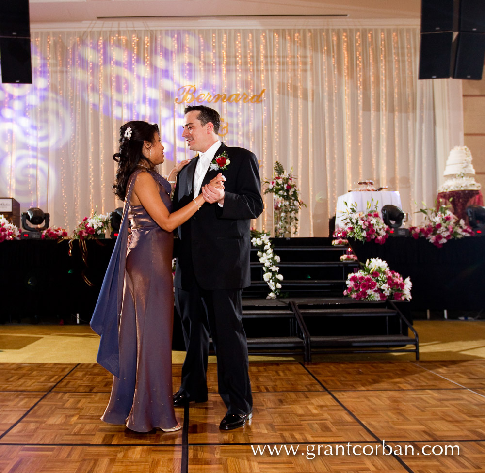
{"label": "lower black speaker nearest the right edge, in the top-right hanging cluster", "polygon": [[458,33],[454,79],[482,79],[485,33]]}

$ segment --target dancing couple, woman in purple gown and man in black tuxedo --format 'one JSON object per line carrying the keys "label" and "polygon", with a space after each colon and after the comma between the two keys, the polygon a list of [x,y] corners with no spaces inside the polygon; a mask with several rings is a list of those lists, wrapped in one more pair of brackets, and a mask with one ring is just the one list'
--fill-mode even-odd
{"label": "dancing couple, woman in purple gown and man in black tuxedo", "polygon": [[[263,210],[259,166],[250,151],[221,143],[219,126],[215,110],[185,109],[182,137],[198,155],[179,163],[168,180],[154,171],[164,158],[158,126],[132,121],[120,128],[113,189],[125,205],[91,319],[101,335],[97,361],[114,375],[101,417],[107,423],[138,432],[181,428],[174,407],[208,398],[209,337],[227,409],[219,428],[244,426],[252,416],[241,293],[250,284],[250,220]],[[174,284],[187,350],[176,394]]]}

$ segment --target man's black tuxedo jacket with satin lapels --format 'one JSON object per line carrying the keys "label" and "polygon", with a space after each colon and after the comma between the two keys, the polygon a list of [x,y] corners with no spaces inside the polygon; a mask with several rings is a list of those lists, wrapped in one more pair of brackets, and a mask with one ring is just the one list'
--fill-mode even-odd
{"label": "man's black tuxedo jacket with satin lapels", "polygon": [[[203,289],[240,289],[249,286],[250,221],[263,211],[259,166],[256,156],[244,148],[224,143],[230,164],[224,171],[208,171],[202,185],[218,173],[226,177],[224,207],[202,205],[195,215],[178,227],[178,264],[175,286],[189,290],[194,279]],[[192,202],[193,180],[198,156],[177,176],[174,210]],[[195,204],[193,204],[195,205]]]}

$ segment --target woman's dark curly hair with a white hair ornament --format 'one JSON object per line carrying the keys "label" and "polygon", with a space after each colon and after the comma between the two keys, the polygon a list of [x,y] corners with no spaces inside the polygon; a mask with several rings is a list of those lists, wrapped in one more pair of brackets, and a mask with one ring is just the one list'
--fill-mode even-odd
{"label": "woman's dark curly hair with a white hair ornament", "polygon": [[[125,136],[127,128],[131,128],[131,136]],[[113,155],[113,159],[118,163],[113,192],[119,199],[125,200],[129,176],[140,161],[150,167],[150,162],[143,156],[142,149],[144,141],[154,142],[155,132],[160,134],[156,123],[151,125],[140,120],[127,122],[120,128],[120,150]]]}

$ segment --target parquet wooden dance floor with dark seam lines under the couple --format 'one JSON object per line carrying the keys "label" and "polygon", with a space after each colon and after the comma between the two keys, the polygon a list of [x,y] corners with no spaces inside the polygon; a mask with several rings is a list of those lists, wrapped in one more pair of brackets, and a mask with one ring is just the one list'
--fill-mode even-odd
{"label": "parquet wooden dance floor with dark seam lines under the couple", "polygon": [[112,380],[97,364],[2,363],[0,472],[485,472],[484,372],[485,360],[252,362],[253,419],[221,432],[210,363],[209,401],[176,409],[183,429],[139,434],[99,420]]}

